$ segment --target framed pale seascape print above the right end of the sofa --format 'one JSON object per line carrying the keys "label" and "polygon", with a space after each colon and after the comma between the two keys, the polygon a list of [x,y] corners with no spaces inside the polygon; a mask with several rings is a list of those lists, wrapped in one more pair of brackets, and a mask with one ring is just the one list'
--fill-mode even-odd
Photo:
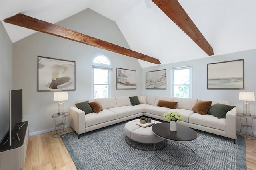
{"label": "framed pale seascape print above the right end of the sofa", "polygon": [[207,89],[244,89],[244,59],[207,64]]}

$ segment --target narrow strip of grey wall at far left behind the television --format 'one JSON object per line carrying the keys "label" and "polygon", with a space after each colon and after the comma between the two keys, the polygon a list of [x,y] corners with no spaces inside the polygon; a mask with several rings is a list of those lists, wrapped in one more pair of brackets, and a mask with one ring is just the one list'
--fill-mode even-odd
{"label": "narrow strip of grey wall at far left behind the television", "polygon": [[0,21],[0,142],[9,129],[9,90],[12,89],[12,41]]}

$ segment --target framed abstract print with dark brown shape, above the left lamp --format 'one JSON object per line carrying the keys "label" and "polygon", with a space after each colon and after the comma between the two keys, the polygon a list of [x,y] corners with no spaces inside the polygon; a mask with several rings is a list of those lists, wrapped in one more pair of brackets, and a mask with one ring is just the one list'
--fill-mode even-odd
{"label": "framed abstract print with dark brown shape, above the left lamp", "polygon": [[38,91],[76,90],[75,61],[38,56]]}

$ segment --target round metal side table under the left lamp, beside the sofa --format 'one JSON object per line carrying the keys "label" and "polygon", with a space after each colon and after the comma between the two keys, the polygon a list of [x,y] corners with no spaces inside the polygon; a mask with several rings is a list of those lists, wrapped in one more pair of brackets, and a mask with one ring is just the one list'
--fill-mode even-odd
{"label": "round metal side table under the left lamp, beside the sofa", "polygon": [[[55,123],[55,130],[54,133],[52,135],[52,137],[54,138],[60,138],[60,137],[64,137],[68,134],[68,132],[66,132],[66,117],[68,117],[70,115],[70,113],[65,112],[64,114],[60,115],[58,113],[55,113],[52,115],[52,118],[54,119],[54,123]],[[56,118],[62,118],[62,123],[59,123],[56,125]],[[58,132],[58,130],[56,130],[56,127],[60,127],[62,126],[62,131]],[[59,129],[60,130],[60,129]],[[63,133],[64,132],[64,133]],[[59,137],[57,136],[58,133],[63,133],[62,136],[60,135]],[[56,135],[56,136],[55,136]]]}

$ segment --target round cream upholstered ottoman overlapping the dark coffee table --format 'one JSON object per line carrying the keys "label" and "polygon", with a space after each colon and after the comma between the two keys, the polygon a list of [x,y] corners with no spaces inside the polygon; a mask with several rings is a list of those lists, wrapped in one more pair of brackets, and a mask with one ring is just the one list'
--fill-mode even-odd
{"label": "round cream upholstered ottoman overlapping the dark coffee table", "polygon": [[[124,126],[125,135],[132,139],[133,141],[139,143],[154,143],[154,133],[152,132],[152,127],[141,127],[136,124],[140,119],[129,121]],[[152,120],[155,123],[161,123],[159,121]],[[164,139],[155,136],[155,143],[162,142]]]}

